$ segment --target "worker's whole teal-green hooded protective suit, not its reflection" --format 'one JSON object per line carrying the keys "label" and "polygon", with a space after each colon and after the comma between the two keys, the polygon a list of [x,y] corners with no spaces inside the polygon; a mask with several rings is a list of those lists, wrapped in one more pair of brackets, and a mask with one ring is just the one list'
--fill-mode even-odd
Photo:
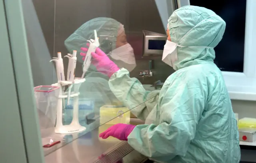
{"label": "worker's whole teal-green hooded protective suit, not its reflection", "polygon": [[[197,6],[174,11],[168,20],[172,42],[216,47],[226,23],[217,15],[210,17],[213,14]],[[213,62],[214,50],[178,47],[177,51],[177,71],[160,91],[146,91],[125,69],[110,78],[116,97],[146,121],[134,128],[128,143],[156,162],[239,163],[236,118],[222,73]]]}

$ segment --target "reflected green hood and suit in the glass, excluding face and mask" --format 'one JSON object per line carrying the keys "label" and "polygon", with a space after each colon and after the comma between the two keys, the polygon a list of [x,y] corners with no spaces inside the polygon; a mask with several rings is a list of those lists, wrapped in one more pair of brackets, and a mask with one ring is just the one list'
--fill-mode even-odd
{"label": "reflected green hood and suit in the glass, excluding face and mask", "polygon": [[[116,48],[116,37],[118,34],[120,22],[112,18],[94,18],[89,20],[80,26],[73,34],[71,34],[65,40],[65,46],[68,51],[72,54],[73,50],[77,50],[77,60],[83,63],[82,56],[80,56],[80,48],[87,47],[87,40],[94,39],[94,30],[97,31],[98,37],[104,36],[114,36],[112,50]],[[104,52],[104,47],[100,47]],[[82,69],[82,67],[81,67]],[[81,74],[82,75],[82,74]],[[80,86],[80,98],[88,98],[94,101],[95,112],[99,113],[99,108],[105,104],[111,104],[118,101],[115,95],[109,88],[108,76],[98,72],[92,64],[86,72],[86,81]]]}

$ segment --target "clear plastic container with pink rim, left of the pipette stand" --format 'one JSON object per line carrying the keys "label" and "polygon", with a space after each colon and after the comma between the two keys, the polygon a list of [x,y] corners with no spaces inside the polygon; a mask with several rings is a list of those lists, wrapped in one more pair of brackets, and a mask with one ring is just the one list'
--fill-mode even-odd
{"label": "clear plastic container with pink rim, left of the pipette stand", "polygon": [[54,126],[56,122],[59,91],[59,87],[52,85],[34,87],[42,138],[50,137],[55,133]]}

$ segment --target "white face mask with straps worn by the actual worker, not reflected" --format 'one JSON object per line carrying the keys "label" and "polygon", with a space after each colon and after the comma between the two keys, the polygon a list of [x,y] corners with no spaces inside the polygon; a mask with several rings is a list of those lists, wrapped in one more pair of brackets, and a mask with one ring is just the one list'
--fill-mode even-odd
{"label": "white face mask with straps worn by the actual worker, not reflected", "polygon": [[[208,18],[214,16],[216,14],[213,14],[211,16],[209,16]],[[206,18],[206,19],[208,19]],[[206,20],[204,19],[204,20]],[[204,20],[202,20],[201,22],[203,22]],[[200,23],[201,23],[200,22]],[[198,26],[200,23],[198,23],[196,26]],[[193,28],[191,28],[181,39],[180,41],[191,31],[193,30],[196,26],[194,26]],[[179,42],[180,42],[179,41]],[[182,48],[211,48],[213,49],[213,47],[208,47],[208,46],[181,46],[178,45],[175,42],[171,42],[169,40],[166,41],[166,44],[164,45],[164,52],[163,52],[163,56],[162,56],[162,61],[166,64],[168,64],[169,66],[171,66],[172,68],[174,68],[174,70],[176,70],[176,67],[174,65],[174,62],[178,60],[178,54],[177,54],[177,46],[182,47]]]}

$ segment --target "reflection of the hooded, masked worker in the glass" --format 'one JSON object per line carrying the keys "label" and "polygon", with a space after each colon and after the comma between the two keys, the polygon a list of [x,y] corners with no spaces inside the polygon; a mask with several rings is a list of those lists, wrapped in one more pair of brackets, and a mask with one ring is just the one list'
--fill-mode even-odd
{"label": "reflection of the hooded, masked worker in the glass", "polygon": [[[110,60],[118,67],[126,68],[129,71],[136,67],[133,49],[126,40],[124,26],[112,18],[94,18],[84,23],[65,40],[68,51],[80,52],[80,48],[86,47],[87,40],[94,39],[94,30],[97,31],[100,48],[108,54]],[[85,54],[83,55],[85,56]],[[78,62],[83,62],[82,57],[78,57]],[[115,95],[110,91],[108,76],[100,73],[93,64],[85,77],[86,82],[82,83],[80,87],[80,97],[95,100],[96,108],[117,101]]]}

